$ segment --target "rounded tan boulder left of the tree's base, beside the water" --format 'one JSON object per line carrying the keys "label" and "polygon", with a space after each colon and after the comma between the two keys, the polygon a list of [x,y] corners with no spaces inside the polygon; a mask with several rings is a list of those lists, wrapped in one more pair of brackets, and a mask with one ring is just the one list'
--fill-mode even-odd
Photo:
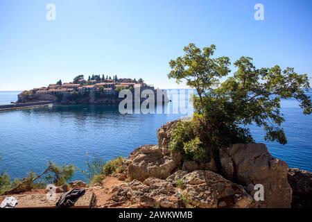
{"label": "rounded tan boulder left of the tree's base, beside the water", "polygon": [[166,179],[180,167],[181,160],[175,151],[157,145],[141,146],[129,157],[128,176],[141,181],[149,177]]}

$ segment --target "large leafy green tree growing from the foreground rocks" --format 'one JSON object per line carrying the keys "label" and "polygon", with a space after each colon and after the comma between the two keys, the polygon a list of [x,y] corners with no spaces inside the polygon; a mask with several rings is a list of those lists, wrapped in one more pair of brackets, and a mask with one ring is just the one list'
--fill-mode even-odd
{"label": "large leafy green tree growing from the foreground rocks", "polygon": [[216,160],[220,148],[254,142],[248,129],[251,124],[263,128],[266,141],[286,144],[281,99],[294,98],[304,114],[311,114],[311,99],[305,94],[310,87],[308,76],[277,65],[258,69],[252,58],[241,57],[234,62],[234,75],[220,83],[230,73],[230,60],[214,58],[215,49],[214,45],[201,50],[189,44],[184,56],[169,62],[168,78],[185,81],[197,92],[193,119],[177,124],[169,148],[192,160]]}

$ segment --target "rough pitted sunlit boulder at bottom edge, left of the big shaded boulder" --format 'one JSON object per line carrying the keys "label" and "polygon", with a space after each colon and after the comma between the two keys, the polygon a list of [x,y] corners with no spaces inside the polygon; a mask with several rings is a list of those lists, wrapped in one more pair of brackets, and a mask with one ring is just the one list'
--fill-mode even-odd
{"label": "rough pitted sunlit boulder at bottom edge, left of the big shaded boulder", "polygon": [[226,180],[212,171],[177,171],[166,179],[179,181],[181,198],[187,207],[201,208],[250,208],[253,198],[241,185]]}

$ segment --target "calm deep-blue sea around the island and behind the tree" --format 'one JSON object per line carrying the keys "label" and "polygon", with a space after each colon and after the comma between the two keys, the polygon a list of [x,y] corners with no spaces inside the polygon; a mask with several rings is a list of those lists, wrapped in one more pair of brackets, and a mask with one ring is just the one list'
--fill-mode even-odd
{"label": "calm deep-blue sea around the island and behind the tree", "polygon": [[[0,92],[0,103],[17,100],[19,92]],[[309,92],[312,96],[312,92]],[[295,100],[282,102],[288,144],[263,141],[261,129],[252,127],[257,142],[266,143],[275,157],[290,167],[312,171],[312,117],[305,116]],[[119,114],[101,105],[53,106],[0,112],[0,172],[12,178],[28,171],[40,173],[48,160],[85,169],[86,153],[110,160],[128,156],[143,144],[156,144],[156,130],[178,119],[178,114]],[[83,178],[77,172],[76,179]]]}

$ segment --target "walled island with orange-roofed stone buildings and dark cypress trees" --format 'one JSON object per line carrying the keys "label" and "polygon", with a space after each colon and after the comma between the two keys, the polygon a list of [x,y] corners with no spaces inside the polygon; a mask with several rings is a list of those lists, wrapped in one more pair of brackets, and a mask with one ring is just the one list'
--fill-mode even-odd
{"label": "walled island with orange-roofed stone buildings and dark cypress trees", "polygon": [[[118,104],[123,98],[119,98],[122,89],[130,89],[132,92],[139,89],[150,89],[157,94],[157,89],[153,85],[147,85],[142,78],[117,78],[117,76],[92,75],[85,79],[84,75],[76,76],[72,82],[62,83],[59,80],[55,84],[47,87],[25,90],[18,95],[15,105],[21,103],[40,103],[50,101],[60,105],[78,104]],[[162,90],[163,101],[168,101],[166,92]]]}

